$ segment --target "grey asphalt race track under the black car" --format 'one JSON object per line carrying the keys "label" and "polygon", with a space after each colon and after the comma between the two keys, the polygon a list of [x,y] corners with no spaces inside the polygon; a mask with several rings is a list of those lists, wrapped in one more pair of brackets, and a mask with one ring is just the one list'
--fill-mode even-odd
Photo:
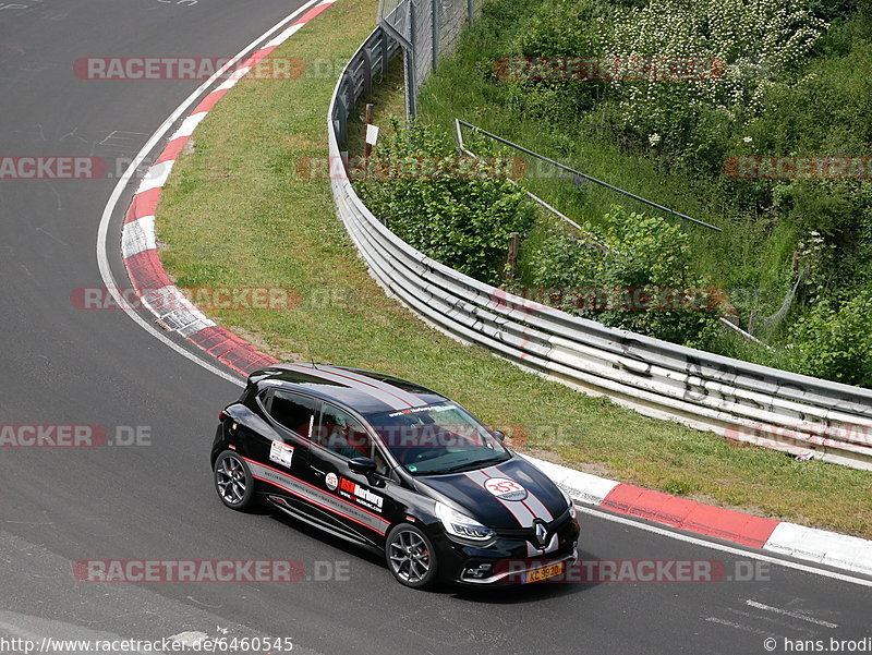
{"label": "grey asphalt race track under the black car", "polygon": [[[85,81],[73,73],[77,58],[229,57],[300,4],[0,2],[0,155],[133,158],[199,82]],[[110,436],[138,426],[149,437],[128,447],[0,448],[0,636],[227,630],[341,655],[764,653],[770,636],[782,653],[785,639],[828,646],[831,638],[872,638],[869,586],[754,565],[590,513],[585,559],[716,559],[734,577],[759,567],[755,580],[420,593],[342,542],[269,513],[227,510],[207,457],[218,410],[239,387],[124,313],[70,300],[76,288],[104,286],[95,244],[117,172],[0,180],[0,423],[102,425]],[[118,252],[109,257],[125,283]],[[312,579],[98,584],[73,577],[71,562],[85,559],[296,559]]]}

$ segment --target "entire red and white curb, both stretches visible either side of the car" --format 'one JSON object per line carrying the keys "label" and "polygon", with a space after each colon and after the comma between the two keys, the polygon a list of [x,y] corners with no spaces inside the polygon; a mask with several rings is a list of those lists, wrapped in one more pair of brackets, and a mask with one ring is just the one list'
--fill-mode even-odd
{"label": "entire red and white curb, both stretches visible either side of the car", "polygon": [[[237,82],[272,50],[337,0],[323,0],[245,60],[242,68],[209,93],[169,138],[141,182],[128,209],[121,238],[124,266],[141,301],[171,330],[179,332],[220,362],[247,375],[278,363],[207,318],[172,283],[158,256],[155,209],[160,191],[195,128]],[[148,301],[146,301],[148,298]],[[542,469],[573,499],[618,514],[646,519],[675,529],[811,562],[872,575],[872,542],[711,507],[598,477],[559,464],[526,459]]]}

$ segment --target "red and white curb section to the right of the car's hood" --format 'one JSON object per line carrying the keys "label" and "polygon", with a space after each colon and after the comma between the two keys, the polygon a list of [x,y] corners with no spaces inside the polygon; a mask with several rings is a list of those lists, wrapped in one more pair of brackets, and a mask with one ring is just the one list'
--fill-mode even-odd
{"label": "red and white curb section to the right of the car's hood", "polygon": [[712,507],[524,457],[579,502],[750,548],[872,575],[870,541]]}

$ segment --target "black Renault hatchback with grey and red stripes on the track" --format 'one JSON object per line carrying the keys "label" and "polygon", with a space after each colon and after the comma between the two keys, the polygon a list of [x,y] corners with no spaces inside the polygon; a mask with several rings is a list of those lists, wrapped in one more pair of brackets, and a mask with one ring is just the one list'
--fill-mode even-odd
{"label": "black Renault hatchback with grey and red stripes on the track", "polygon": [[448,398],[368,371],[282,364],[220,413],[215,486],[383,553],[425,589],[538,582],[577,558],[571,499]]}

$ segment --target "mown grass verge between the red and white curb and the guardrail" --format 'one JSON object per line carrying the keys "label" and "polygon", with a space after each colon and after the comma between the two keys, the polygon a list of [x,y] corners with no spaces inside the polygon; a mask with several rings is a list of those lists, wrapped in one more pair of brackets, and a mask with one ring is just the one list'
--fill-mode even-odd
{"label": "mown grass verge between the red and white curb and the guardrail", "polygon": [[[375,0],[341,0],[277,52],[350,57]],[[361,16],[365,16],[362,20]],[[214,312],[228,329],[289,361],[354,365],[444,392],[509,432],[522,450],[646,487],[872,536],[872,476],[796,462],[643,417],[525,373],[435,332],[368,276],[336,217],[327,181],[298,163],[326,157],[335,80],[243,81],[194,134],[161,195],[158,234],[183,287],[293,287],[299,307]],[[379,106],[390,111],[393,100]],[[396,105],[395,105],[396,108]],[[361,112],[358,112],[361,113]]]}

